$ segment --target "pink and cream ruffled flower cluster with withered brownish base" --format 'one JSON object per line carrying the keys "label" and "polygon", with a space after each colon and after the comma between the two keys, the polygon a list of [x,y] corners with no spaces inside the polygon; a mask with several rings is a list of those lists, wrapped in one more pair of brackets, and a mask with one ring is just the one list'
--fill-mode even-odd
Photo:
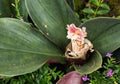
{"label": "pink and cream ruffled flower cluster with withered brownish base", "polygon": [[74,24],[67,25],[67,38],[71,39],[72,49],[68,49],[70,51],[70,55],[76,58],[86,58],[87,52],[90,50],[93,52],[92,43],[86,39],[87,32],[86,27],[76,27]]}

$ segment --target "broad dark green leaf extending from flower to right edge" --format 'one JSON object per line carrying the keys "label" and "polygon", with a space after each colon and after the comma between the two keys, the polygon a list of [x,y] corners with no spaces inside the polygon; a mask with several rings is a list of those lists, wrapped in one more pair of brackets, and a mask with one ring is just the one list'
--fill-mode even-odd
{"label": "broad dark green leaf extending from flower to right edge", "polygon": [[96,18],[85,22],[88,39],[92,41],[103,57],[120,47],[120,20],[114,18]]}

